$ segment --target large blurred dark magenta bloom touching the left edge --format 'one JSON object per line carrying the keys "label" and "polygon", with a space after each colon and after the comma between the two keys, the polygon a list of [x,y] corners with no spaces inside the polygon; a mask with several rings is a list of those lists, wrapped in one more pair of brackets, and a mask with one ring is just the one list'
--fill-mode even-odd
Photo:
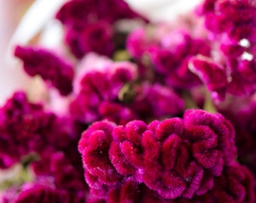
{"label": "large blurred dark magenta bloom touching the left edge", "polygon": [[78,135],[71,119],[29,102],[25,92],[15,92],[0,108],[0,168],[11,167],[29,153],[40,157],[49,145],[54,150],[68,151],[69,146],[75,146]]}

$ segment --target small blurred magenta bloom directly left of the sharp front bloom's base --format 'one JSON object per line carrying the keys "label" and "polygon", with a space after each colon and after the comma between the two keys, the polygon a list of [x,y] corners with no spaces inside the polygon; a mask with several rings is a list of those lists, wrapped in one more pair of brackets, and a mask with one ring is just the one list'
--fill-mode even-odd
{"label": "small blurred magenta bloom directly left of the sharp front bloom's base", "polygon": [[[65,151],[56,151],[50,147],[41,153],[41,159],[32,162],[32,171],[35,174],[35,182],[51,180],[53,188],[66,192],[69,195],[68,202],[84,202],[87,194],[87,183],[81,171],[82,165],[72,164],[72,158]],[[62,171],[62,172],[59,172]]]}

